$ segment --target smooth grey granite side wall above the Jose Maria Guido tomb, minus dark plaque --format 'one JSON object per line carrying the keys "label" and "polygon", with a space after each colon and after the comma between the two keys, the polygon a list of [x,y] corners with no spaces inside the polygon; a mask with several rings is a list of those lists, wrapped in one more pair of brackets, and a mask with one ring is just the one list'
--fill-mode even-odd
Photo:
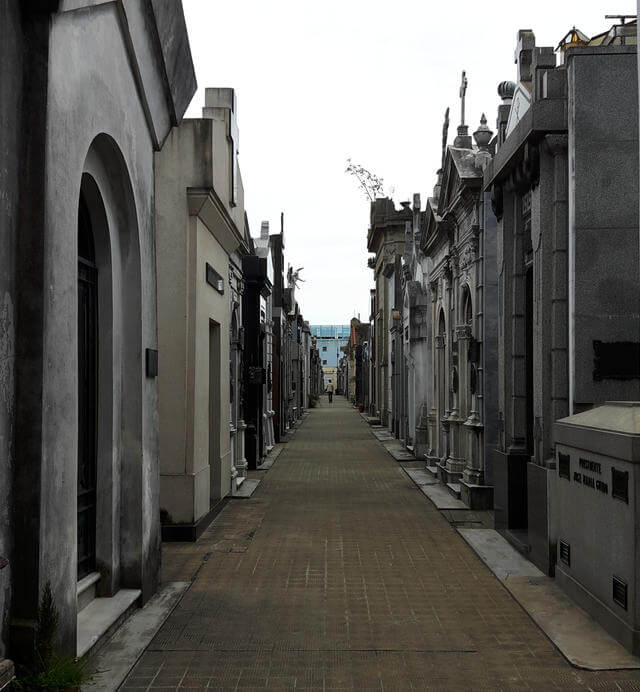
{"label": "smooth grey granite side wall above the Jose Maria Guido tomb, minus dark plaque", "polygon": [[637,379],[593,377],[594,340],[640,332],[635,46],[569,51],[567,76],[570,389],[577,405],[636,400]]}

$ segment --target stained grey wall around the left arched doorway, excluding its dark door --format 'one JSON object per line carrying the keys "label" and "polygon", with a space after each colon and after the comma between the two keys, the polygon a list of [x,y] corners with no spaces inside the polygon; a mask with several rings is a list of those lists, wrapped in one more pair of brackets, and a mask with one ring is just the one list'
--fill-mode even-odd
{"label": "stained grey wall around the left arched doorway, excluding its dark door", "polygon": [[[186,107],[171,101],[163,55],[185,68],[187,91],[195,78],[190,55],[174,50],[180,37],[163,54],[162,27],[153,27],[147,3],[125,5],[124,15],[116,3],[69,1],[61,8],[69,11],[51,15],[23,7],[26,98],[14,125],[24,137],[14,415],[22,461],[13,479],[20,545],[12,596],[12,652],[20,657],[33,646],[47,581],[60,611],[60,651],[76,652],[77,231],[85,184],[95,193],[91,215],[101,245],[98,589],[139,588],[144,601],[157,585],[157,386],[144,365],[145,350],[157,346],[153,151]],[[182,16],[179,3],[174,12]],[[13,118],[14,107],[3,98],[3,116],[6,108]]]}

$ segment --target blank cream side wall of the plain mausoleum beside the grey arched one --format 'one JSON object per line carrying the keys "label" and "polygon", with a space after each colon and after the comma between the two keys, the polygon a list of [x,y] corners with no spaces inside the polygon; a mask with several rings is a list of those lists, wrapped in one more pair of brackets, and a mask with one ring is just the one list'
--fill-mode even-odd
{"label": "blank cream side wall of the plain mausoleum beside the grey arched one", "polygon": [[[183,125],[184,127],[184,125]],[[156,261],[158,276],[158,388],[159,388],[159,465],[161,473],[161,511],[168,512],[163,521],[194,521],[193,435],[191,446],[186,431],[192,425],[186,363],[193,362],[195,319],[196,263],[195,220],[190,223],[186,187],[191,178],[200,174],[206,179],[207,160],[211,160],[211,144],[207,146],[208,129],[204,137],[196,132],[187,139],[195,148],[200,143],[199,156],[184,151],[184,130],[176,129],[167,138],[161,152],[156,154]],[[187,174],[186,165],[200,165]],[[181,364],[177,367],[177,364]],[[191,421],[191,422],[189,422]],[[171,478],[167,484],[167,477]],[[208,495],[208,489],[207,489]]]}

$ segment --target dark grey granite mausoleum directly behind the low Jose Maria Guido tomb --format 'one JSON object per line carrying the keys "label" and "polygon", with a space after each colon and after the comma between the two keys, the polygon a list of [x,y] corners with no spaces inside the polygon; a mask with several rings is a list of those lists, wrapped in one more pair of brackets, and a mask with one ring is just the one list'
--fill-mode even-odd
{"label": "dark grey granite mausoleum directly behind the low Jose Maria Guido tomb", "polygon": [[519,33],[513,105],[499,109],[484,176],[498,217],[496,526],[547,573],[554,421],[640,395],[637,367],[616,372],[639,331],[635,46],[598,44],[566,46],[556,66]]}

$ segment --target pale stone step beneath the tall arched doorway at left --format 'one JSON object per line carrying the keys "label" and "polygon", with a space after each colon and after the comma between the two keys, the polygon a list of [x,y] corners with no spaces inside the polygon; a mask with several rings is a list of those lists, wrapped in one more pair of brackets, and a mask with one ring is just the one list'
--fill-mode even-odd
{"label": "pale stone step beneath the tall arched doorway at left", "polygon": [[135,610],[140,589],[120,589],[113,596],[94,598],[78,613],[76,656],[96,651]]}

